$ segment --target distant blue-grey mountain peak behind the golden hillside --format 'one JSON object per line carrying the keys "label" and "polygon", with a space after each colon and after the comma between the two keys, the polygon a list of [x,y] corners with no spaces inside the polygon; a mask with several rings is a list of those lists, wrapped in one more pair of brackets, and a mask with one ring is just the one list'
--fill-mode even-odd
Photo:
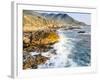
{"label": "distant blue-grey mountain peak behind the golden hillside", "polygon": [[73,19],[72,17],[70,17],[68,14],[65,13],[43,13],[43,16],[49,18],[49,19],[53,19],[55,21],[58,21],[60,23],[63,23],[65,25],[72,25],[72,26],[77,26],[77,25],[83,25],[85,26],[86,24],[80,21],[77,21],[75,19]]}

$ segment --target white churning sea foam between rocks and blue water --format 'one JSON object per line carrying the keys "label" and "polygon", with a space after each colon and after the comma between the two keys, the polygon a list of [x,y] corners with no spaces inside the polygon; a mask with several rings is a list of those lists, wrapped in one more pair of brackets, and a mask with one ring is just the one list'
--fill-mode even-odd
{"label": "white churning sea foam between rocks and blue water", "polygon": [[50,57],[45,64],[38,65],[38,68],[60,68],[66,67],[70,64],[70,67],[77,66],[73,60],[68,58],[74,48],[72,41],[65,37],[65,35],[59,30],[58,35],[60,36],[59,42],[53,45],[56,54],[51,54],[50,51],[42,53],[43,56]]}

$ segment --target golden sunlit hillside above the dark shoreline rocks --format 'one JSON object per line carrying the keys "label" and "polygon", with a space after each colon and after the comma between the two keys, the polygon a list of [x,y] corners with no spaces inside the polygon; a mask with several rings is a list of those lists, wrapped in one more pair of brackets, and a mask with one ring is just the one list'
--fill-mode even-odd
{"label": "golden sunlit hillside above the dark shoreline rocks", "polygon": [[24,32],[31,32],[37,30],[50,29],[57,26],[57,21],[46,19],[38,13],[26,13],[23,15],[23,30]]}

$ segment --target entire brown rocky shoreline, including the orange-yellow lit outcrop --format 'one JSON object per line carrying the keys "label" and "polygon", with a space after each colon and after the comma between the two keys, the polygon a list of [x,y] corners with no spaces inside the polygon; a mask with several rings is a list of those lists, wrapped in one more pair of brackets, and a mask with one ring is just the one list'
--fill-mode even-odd
{"label": "entire brown rocky shoreline, including the orange-yellow lit outcrop", "polygon": [[[23,69],[36,69],[39,64],[45,63],[49,58],[42,56],[41,52],[52,49],[58,42],[59,36],[54,31],[36,31],[23,33]],[[39,54],[32,56],[30,52]]]}

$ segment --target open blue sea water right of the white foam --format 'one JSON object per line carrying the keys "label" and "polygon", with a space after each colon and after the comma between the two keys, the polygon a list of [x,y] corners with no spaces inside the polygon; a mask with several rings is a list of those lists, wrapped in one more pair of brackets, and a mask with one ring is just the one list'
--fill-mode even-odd
{"label": "open blue sea water right of the white foam", "polygon": [[69,31],[70,34],[64,33],[74,45],[68,57],[77,66],[89,66],[91,64],[91,35],[88,29],[81,30],[85,31],[85,33],[77,33],[78,30],[74,30],[72,33]]}

